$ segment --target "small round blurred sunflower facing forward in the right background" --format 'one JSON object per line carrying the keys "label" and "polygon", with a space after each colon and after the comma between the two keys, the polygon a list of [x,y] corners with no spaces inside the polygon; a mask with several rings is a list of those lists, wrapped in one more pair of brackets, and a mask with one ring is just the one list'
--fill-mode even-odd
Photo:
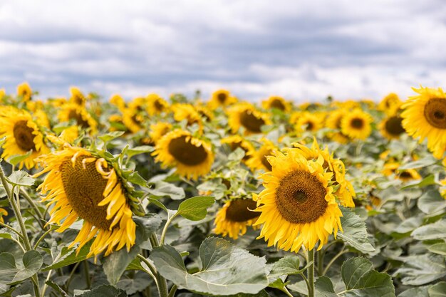
{"label": "small round blurred sunflower facing forward in the right background", "polygon": [[343,116],[341,120],[341,132],[352,139],[365,140],[372,132],[373,119],[363,110],[357,108]]}

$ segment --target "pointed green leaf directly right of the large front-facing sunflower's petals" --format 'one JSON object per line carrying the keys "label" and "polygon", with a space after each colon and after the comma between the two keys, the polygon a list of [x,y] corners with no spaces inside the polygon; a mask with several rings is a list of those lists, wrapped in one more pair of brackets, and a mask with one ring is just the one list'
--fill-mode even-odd
{"label": "pointed green leaf directly right of the large front-facing sunflower's petals", "polygon": [[343,217],[341,217],[341,225],[343,232],[338,232],[338,237],[346,244],[353,246],[358,251],[368,252],[375,251],[375,248],[367,239],[367,229],[365,222],[350,209],[341,207]]}

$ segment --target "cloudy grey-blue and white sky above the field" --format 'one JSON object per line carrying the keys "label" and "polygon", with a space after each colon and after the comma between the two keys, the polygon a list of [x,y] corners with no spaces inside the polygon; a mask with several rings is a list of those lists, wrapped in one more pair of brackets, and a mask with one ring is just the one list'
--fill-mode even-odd
{"label": "cloudy grey-blue and white sky above the field", "polygon": [[301,102],[446,87],[443,0],[1,0],[0,28],[7,93],[26,80],[42,97],[76,85]]}

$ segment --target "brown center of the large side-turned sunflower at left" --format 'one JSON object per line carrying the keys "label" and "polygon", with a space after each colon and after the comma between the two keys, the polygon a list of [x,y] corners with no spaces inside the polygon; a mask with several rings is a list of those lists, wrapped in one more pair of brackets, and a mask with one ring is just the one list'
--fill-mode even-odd
{"label": "brown center of the large side-turned sunflower at left", "polygon": [[98,207],[101,202],[107,179],[96,170],[95,162],[86,162],[85,169],[82,160],[86,156],[76,159],[75,165],[67,157],[59,167],[62,175],[62,184],[68,202],[79,217],[97,226],[108,230],[111,221],[107,217],[107,206]]}

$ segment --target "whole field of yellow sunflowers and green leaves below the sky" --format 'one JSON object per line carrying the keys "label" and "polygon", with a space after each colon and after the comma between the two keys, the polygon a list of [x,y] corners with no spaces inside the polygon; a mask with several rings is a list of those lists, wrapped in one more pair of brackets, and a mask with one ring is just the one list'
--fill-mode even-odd
{"label": "whole field of yellow sunflowers and green leaves below the sky", "polygon": [[446,296],[440,88],[0,102],[0,296]]}

